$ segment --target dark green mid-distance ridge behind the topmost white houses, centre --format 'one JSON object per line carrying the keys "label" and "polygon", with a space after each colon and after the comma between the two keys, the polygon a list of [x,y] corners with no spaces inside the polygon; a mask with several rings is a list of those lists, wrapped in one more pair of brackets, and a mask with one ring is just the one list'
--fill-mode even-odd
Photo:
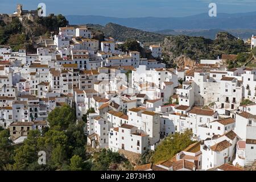
{"label": "dark green mid-distance ridge behind the topmost white houses, centre", "polygon": [[86,24],[86,26],[93,28],[94,30],[100,30],[105,36],[111,36],[119,41],[139,40],[141,42],[162,42],[164,40],[164,35],[129,28],[114,23],[108,23],[106,26],[101,26],[99,24]]}

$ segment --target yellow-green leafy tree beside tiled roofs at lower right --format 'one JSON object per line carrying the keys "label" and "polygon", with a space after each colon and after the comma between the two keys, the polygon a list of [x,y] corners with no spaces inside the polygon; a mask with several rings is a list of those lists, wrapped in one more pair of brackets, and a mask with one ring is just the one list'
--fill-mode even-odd
{"label": "yellow-green leafy tree beside tiled roofs at lower right", "polygon": [[193,143],[192,135],[191,131],[186,130],[184,133],[175,133],[166,137],[156,148],[152,156],[152,162],[171,159],[177,152],[184,150]]}

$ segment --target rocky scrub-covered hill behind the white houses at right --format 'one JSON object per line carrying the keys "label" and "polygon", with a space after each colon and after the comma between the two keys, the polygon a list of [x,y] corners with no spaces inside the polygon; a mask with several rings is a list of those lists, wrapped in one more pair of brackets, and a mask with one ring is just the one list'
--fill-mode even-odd
{"label": "rocky scrub-covered hill behind the white houses at right", "polygon": [[216,39],[205,39],[195,36],[168,36],[164,39],[163,54],[167,62],[183,67],[180,57],[193,61],[200,59],[216,59],[222,54],[238,54],[247,52],[249,46],[227,32],[218,32]]}

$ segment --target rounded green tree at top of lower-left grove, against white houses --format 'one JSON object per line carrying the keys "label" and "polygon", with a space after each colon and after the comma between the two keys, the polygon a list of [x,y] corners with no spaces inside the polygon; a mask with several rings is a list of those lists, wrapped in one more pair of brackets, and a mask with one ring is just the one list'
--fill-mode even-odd
{"label": "rounded green tree at top of lower-left grove, against white houses", "polygon": [[51,129],[66,130],[69,124],[76,122],[75,110],[68,105],[56,107],[49,113],[47,121]]}

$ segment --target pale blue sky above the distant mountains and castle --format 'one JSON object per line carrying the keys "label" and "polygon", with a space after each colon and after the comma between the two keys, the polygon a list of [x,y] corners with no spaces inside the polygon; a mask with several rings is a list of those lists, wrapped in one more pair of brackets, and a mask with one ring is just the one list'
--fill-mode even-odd
{"label": "pale blue sky above the distant mountains and castle", "polygon": [[256,0],[0,0],[0,13],[14,13],[16,4],[23,9],[36,9],[44,2],[47,14],[102,15],[114,17],[181,17],[208,12],[210,2],[218,13],[256,11]]}

